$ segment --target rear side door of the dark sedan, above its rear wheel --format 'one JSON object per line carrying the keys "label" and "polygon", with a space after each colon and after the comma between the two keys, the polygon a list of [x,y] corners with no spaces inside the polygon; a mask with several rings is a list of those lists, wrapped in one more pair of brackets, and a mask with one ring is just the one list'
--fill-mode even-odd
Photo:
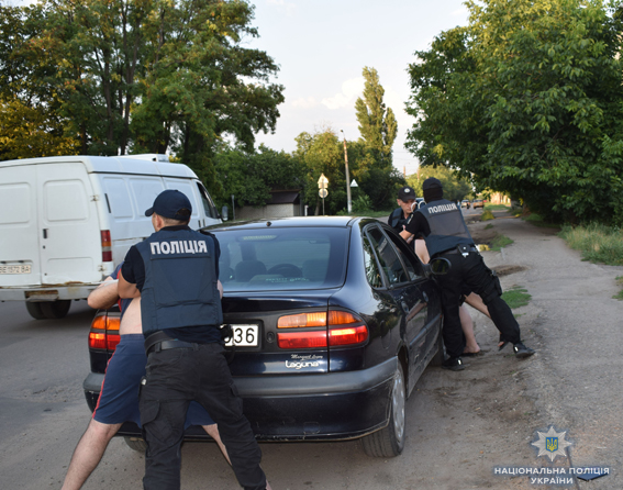
{"label": "rear side door of the dark sedan, above its rear wheel", "polygon": [[388,292],[401,314],[400,335],[409,352],[409,391],[424,367],[426,353],[426,301],[419,287],[419,276],[405,258],[402,238],[378,225],[367,230],[388,283]]}

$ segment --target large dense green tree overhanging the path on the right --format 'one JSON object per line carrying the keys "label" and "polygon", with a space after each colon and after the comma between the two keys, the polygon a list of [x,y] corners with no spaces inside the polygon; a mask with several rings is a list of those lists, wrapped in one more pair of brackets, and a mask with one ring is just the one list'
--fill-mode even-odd
{"label": "large dense green tree overhanging the path on the right", "polygon": [[469,2],[469,25],[410,66],[410,149],[549,218],[621,222],[621,22],[609,5]]}

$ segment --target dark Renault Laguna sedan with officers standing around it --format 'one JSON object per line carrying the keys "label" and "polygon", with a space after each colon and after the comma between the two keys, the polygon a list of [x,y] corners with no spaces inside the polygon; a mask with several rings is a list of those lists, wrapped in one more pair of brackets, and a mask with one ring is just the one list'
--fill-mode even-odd
{"label": "dark Renault Laguna sedan with officers standing around it", "polygon": [[[431,267],[389,226],[366,218],[294,218],[208,231],[221,245],[224,321],[235,342],[230,367],[256,437],[363,437],[371,456],[399,455],[405,399],[424,368],[443,360]],[[91,328],[91,335],[104,334],[89,348],[85,391],[91,410],[118,338],[114,315],[100,312]],[[120,434],[140,436],[130,423]],[[202,438],[208,436],[199,427],[187,432],[187,439]]]}

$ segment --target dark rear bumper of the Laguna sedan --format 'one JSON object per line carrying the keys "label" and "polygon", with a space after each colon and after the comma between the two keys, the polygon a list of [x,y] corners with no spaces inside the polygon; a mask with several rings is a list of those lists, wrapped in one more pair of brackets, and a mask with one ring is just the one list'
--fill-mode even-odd
{"label": "dark rear bumper of the Laguna sedan", "polygon": [[[258,441],[343,441],[372,433],[389,420],[389,399],[397,358],[368,369],[318,375],[236,377],[244,412]],[[84,382],[93,410],[103,375]],[[124,424],[120,435],[140,435]],[[190,427],[187,441],[209,441]]]}

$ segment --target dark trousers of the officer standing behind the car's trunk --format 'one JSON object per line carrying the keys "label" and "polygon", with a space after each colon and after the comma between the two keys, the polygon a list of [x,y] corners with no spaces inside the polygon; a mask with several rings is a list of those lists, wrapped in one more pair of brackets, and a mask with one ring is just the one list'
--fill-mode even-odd
{"label": "dark trousers of the officer standing behind the car's trunk", "polygon": [[191,400],[197,400],[219,425],[232,467],[241,486],[264,490],[266,476],[259,467],[262,453],[242,411],[220,344],[153,352],[147,357],[141,387],[141,423],[147,442],[146,490],[180,488],[180,445]]}

